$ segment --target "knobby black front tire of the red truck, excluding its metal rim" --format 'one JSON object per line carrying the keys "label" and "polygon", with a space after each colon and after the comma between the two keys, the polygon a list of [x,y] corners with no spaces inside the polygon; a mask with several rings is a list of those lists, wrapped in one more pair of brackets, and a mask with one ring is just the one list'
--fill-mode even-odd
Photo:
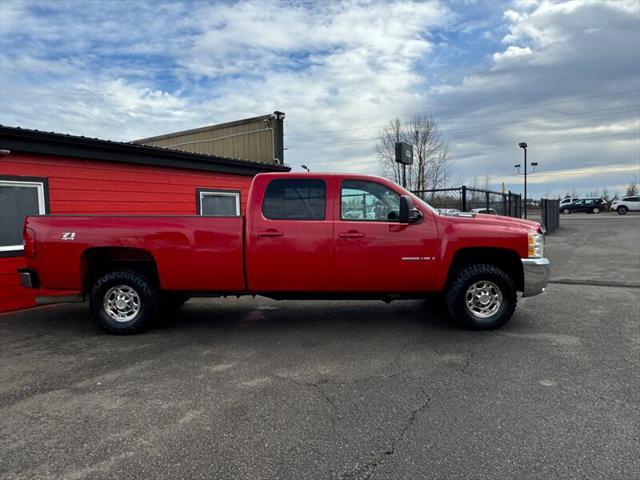
{"label": "knobby black front tire of the red truck, excluding its metal rim", "polygon": [[[504,308],[502,313],[492,322],[474,320],[467,311],[464,301],[461,301],[460,297],[464,298],[466,293],[466,284],[475,276],[478,276],[479,279],[485,278],[486,280],[492,280],[493,277],[493,280],[499,280],[503,283],[500,287],[503,302],[506,302],[506,308]],[[503,286],[506,288],[502,288]],[[516,311],[518,303],[517,287],[511,276],[501,268],[479,263],[463,267],[456,274],[453,281],[445,290],[444,300],[449,315],[463,327],[470,330],[494,330],[507,323]]]}

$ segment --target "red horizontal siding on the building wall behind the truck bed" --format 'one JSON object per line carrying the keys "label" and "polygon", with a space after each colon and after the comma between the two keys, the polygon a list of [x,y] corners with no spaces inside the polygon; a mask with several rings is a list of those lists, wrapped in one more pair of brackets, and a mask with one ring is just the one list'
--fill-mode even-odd
{"label": "red horizontal siding on the building wall behind the truck bed", "polygon": [[[0,158],[4,175],[46,177],[52,214],[197,213],[196,188],[240,190],[244,213],[252,176],[146,167],[46,155],[12,153]],[[31,307],[33,291],[20,286],[23,257],[0,258],[0,312]]]}

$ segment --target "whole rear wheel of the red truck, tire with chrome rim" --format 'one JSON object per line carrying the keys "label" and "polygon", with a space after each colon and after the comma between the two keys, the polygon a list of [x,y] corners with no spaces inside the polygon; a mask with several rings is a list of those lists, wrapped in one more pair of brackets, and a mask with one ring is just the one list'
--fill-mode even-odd
{"label": "whole rear wheel of the red truck, tire with chrome rim", "polygon": [[[137,298],[137,301],[129,302],[137,307],[131,309],[131,318],[117,320],[105,308],[105,297],[109,295],[111,299],[117,298],[118,292],[123,290],[130,297]],[[126,300],[123,302],[127,304]],[[154,282],[143,274],[134,270],[114,270],[100,277],[93,285],[89,294],[89,308],[98,325],[107,332],[132,335],[146,330],[156,319],[160,311],[160,296]]]}

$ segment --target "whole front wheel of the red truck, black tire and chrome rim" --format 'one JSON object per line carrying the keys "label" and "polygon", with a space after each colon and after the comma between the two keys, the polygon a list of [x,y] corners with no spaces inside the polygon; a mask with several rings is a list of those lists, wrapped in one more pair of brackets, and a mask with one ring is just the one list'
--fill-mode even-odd
{"label": "whole front wheel of the red truck, black tire and chrome rim", "polygon": [[517,301],[513,279],[493,265],[463,267],[445,292],[449,314],[473,330],[501,327],[515,312]]}

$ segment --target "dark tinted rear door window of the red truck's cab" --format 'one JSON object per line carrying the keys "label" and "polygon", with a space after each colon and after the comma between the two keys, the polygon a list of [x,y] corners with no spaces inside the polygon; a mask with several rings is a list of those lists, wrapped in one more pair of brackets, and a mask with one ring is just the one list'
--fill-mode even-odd
{"label": "dark tinted rear door window of the red truck's cab", "polygon": [[262,202],[262,214],[270,220],[324,220],[326,197],[324,180],[271,180]]}

